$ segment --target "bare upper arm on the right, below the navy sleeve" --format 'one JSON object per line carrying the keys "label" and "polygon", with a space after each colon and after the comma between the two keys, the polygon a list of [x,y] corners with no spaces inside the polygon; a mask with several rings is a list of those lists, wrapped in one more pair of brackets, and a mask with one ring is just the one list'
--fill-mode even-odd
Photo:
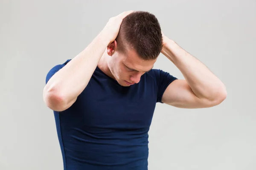
{"label": "bare upper arm on the right, below the navy sleeve", "polygon": [[177,79],[166,88],[162,102],[177,108],[207,108],[212,103],[207,99],[198,98],[186,80]]}

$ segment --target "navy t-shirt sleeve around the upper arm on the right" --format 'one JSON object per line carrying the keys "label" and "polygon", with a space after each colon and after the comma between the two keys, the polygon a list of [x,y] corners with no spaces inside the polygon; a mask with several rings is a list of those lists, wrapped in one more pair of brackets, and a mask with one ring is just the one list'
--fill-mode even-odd
{"label": "navy t-shirt sleeve around the upper arm on the right", "polygon": [[162,96],[164,91],[177,78],[162,70],[155,70],[155,76],[157,81],[157,102],[163,103]]}

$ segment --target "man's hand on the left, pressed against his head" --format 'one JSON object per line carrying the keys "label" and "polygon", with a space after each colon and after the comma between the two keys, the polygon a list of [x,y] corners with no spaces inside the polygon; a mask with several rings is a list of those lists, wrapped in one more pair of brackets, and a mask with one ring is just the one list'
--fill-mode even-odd
{"label": "man's hand on the left, pressed against his head", "polygon": [[122,20],[132,12],[134,11],[125,11],[115,17],[111,17],[108,20],[108,23],[103,28],[102,33],[103,33],[103,36],[106,38],[106,40],[109,42],[109,44],[116,39],[119,33]]}

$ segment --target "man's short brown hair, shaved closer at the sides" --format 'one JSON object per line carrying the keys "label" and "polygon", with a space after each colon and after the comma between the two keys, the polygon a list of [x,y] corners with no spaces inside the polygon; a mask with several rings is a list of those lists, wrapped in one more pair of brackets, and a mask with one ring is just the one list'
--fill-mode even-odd
{"label": "man's short brown hair, shaved closer at the sides", "polygon": [[160,24],[154,14],[135,11],[123,19],[116,42],[118,51],[130,48],[142,59],[156,59],[163,47]]}

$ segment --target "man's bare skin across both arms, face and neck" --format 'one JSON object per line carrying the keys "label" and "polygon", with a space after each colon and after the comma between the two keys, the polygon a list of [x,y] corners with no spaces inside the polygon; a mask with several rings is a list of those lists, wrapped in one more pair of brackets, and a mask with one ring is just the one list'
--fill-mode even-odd
{"label": "man's bare skin across both arms, face and neck", "polygon": [[[94,40],[49,79],[44,87],[43,99],[50,109],[64,111],[73,105],[90,81],[96,66],[122,86],[140,82],[140,77],[153,68],[156,59],[144,61],[129,48],[125,53],[118,51],[116,36],[123,18],[132,12],[125,11],[110,18]],[[166,88],[163,103],[179,108],[208,108],[226,99],[223,82],[164,34],[161,53],[177,66],[185,78],[173,81]]]}

